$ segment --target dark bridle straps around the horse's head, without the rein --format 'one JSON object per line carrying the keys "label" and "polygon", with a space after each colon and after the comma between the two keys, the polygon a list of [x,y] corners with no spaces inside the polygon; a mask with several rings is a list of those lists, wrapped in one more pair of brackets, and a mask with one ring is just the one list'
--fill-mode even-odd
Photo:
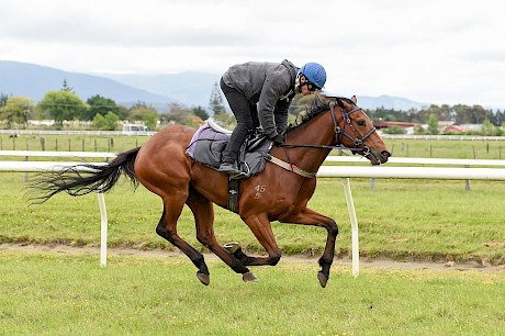
{"label": "dark bridle straps around the horse's head, without the rein", "polygon": [[[348,149],[351,152],[362,152],[363,156],[369,156],[370,155],[370,147],[364,145],[364,141],[375,132],[375,127],[373,126],[370,131],[368,131],[367,134],[364,134],[362,137],[358,136],[358,132],[356,132],[355,126],[352,125],[349,115],[362,110],[361,108],[356,107],[355,109],[350,110],[347,112],[343,108],[340,108],[340,113],[341,113],[341,127],[338,125],[337,122],[337,116],[335,115],[335,104],[329,105],[330,112],[332,112],[332,119],[333,119],[333,124],[334,124],[334,130],[335,130],[335,141],[336,141],[336,146],[334,149]],[[346,131],[346,126],[350,128],[352,134]],[[352,141],[355,144],[355,147],[345,147],[343,145],[343,138],[344,136],[348,137],[349,139]]]}

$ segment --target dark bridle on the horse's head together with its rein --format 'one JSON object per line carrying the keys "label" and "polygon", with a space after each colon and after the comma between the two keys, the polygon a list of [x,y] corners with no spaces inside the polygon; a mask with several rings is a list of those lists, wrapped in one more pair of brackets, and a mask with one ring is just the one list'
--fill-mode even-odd
{"label": "dark bridle on the horse's head together with its rein", "polygon": [[[335,131],[335,145],[291,145],[291,144],[282,144],[281,147],[310,147],[310,148],[323,148],[323,149],[347,149],[351,150],[352,153],[362,152],[362,156],[367,157],[371,154],[370,147],[364,145],[364,141],[372,135],[377,128],[373,126],[370,131],[367,132],[362,137],[358,136],[358,132],[356,131],[355,126],[351,123],[350,114],[363,110],[361,108],[356,107],[355,109],[347,112],[344,108],[340,107],[341,113],[341,126],[338,125],[337,116],[335,114],[335,104],[329,104],[329,111],[332,113],[332,120],[334,124]],[[350,130],[349,133],[347,130]],[[348,137],[355,145],[355,147],[347,147],[343,144],[343,138]]]}

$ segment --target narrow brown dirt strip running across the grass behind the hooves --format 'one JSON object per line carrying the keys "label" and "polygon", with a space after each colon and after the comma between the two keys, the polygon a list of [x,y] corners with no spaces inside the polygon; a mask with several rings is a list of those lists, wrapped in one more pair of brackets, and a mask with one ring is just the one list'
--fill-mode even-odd
{"label": "narrow brown dirt strip running across the grass behind the hooves", "polygon": [[[22,244],[0,244],[2,250],[20,250],[32,253],[54,253],[61,255],[99,255],[99,247],[74,247],[67,245],[22,245]],[[137,256],[137,257],[177,257],[183,256],[181,253],[167,250],[141,250],[134,248],[108,248],[109,255],[116,256]],[[317,262],[318,257],[314,256],[282,256],[281,262],[300,264],[300,262]],[[206,254],[205,259],[216,260],[217,257],[212,254]],[[348,258],[335,259],[335,264],[351,265]],[[505,272],[505,265],[492,266],[481,262],[456,264],[449,262],[426,262],[426,261],[397,261],[386,258],[360,258],[361,267],[383,268],[383,269],[429,269],[429,270],[478,270],[486,272]]]}

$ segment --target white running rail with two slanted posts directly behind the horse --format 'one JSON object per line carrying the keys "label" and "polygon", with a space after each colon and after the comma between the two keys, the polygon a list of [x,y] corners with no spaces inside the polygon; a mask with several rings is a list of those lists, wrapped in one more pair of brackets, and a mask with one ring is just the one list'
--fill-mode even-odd
{"label": "white running rail with two slanted posts directly behind the horse", "polygon": [[[91,152],[30,152],[30,150],[0,150],[0,156],[18,157],[78,157],[78,158],[113,158],[112,153],[91,153]],[[359,157],[329,156],[327,163],[367,163]],[[505,181],[505,160],[472,160],[472,159],[434,159],[434,158],[390,158],[390,164],[409,165],[449,165],[468,168],[452,167],[393,167],[393,166],[329,166],[319,168],[317,177],[344,178],[344,191],[347,209],[351,222],[351,245],[352,245],[352,273],[359,273],[359,234],[358,219],[356,216],[355,204],[350,188],[350,178],[383,178],[383,179],[450,179],[450,180],[496,180]],[[68,161],[15,161],[0,160],[0,171],[45,171],[61,169],[79,163]],[[105,164],[105,163],[103,163]],[[500,167],[500,168],[475,168],[479,167]],[[470,168],[471,167],[471,168]],[[100,264],[106,265],[106,240],[108,240],[108,216],[105,201],[102,193],[98,193],[101,217],[101,240],[100,240]]]}

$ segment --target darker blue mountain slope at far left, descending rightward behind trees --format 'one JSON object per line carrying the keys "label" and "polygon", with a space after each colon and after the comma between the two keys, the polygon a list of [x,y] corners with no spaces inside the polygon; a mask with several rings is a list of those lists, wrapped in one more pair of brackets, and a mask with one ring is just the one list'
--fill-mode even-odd
{"label": "darker blue mountain slope at far left, descending rightward behind trees", "polygon": [[100,94],[117,103],[168,103],[172,98],[148,92],[119,81],[92,75],[68,72],[55,68],[0,60],[0,92],[9,96],[23,96],[37,101],[47,91],[59,90],[64,80],[80,99]]}

